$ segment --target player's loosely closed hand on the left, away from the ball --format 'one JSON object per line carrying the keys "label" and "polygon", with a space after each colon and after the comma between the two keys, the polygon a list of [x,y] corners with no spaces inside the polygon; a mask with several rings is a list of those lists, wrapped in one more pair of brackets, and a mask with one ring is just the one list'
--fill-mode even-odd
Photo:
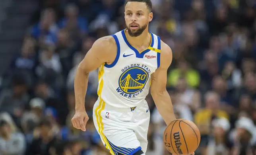
{"label": "player's loosely closed hand on the left, away from the ball", "polygon": [[74,117],[71,119],[73,127],[85,131],[85,126],[89,117],[85,111],[76,111]]}

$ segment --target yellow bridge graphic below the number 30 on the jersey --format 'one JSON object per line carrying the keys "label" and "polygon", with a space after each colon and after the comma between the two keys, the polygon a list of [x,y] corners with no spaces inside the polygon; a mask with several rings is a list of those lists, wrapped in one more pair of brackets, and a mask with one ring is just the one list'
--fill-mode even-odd
{"label": "yellow bridge graphic below the number 30 on the jersey", "polygon": [[122,90],[127,93],[128,89],[142,89],[144,84],[135,81],[131,77],[131,74],[128,74],[122,81],[120,81],[120,86]]}

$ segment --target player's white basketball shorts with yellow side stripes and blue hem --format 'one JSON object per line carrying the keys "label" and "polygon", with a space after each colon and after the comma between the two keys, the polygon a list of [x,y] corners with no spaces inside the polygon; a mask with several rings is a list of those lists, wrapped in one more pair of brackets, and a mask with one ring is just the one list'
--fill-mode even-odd
{"label": "player's white basketball shorts with yellow side stripes and blue hem", "polygon": [[150,112],[146,101],[136,107],[118,110],[98,99],[93,107],[93,122],[111,155],[133,155],[147,151]]}

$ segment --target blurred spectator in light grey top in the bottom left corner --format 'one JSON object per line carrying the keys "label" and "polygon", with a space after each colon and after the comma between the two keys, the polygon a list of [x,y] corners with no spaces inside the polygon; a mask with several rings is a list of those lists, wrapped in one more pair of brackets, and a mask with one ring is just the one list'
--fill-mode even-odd
{"label": "blurred spectator in light grey top in the bottom left corner", "polygon": [[12,133],[10,124],[0,120],[0,154],[23,155],[26,143],[22,133]]}

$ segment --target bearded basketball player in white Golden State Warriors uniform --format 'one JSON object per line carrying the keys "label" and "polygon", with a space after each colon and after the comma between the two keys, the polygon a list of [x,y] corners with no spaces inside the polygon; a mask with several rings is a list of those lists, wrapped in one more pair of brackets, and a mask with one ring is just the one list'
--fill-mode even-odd
{"label": "bearded basketball player in white Golden State Warriors uniform", "polygon": [[111,155],[145,155],[151,95],[165,123],[175,120],[171,98],[166,91],[171,48],[159,36],[148,32],[153,19],[150,0],[126,0],[127,28],[99,38],[79,64],[75,77],[75,128],[85,131],[89,119],[85,94],[89,72],[99,68],[98,100],[93,121]]}

